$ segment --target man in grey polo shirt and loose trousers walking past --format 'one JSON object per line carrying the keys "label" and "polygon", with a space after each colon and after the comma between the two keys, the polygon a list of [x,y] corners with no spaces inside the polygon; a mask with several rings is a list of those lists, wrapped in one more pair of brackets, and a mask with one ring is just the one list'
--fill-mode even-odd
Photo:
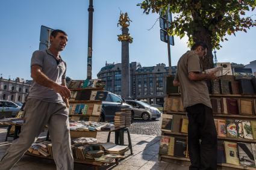
{"label": "man in grey polo shirt and loose trousers walking past", "polygon": [[37,50],[31,58],[34,82],[24,108],[25,123],[19,139],[11,144],[2,157],[1,170],[11,169],[18,162],[46,124],[51,134],[57,169],[73,169],[67,109],[70,91],[65,82],[66,63],[60,57],[60,51],[67,44],[67,34],[56,29],[52,31],[50,41],[49,49]]}

